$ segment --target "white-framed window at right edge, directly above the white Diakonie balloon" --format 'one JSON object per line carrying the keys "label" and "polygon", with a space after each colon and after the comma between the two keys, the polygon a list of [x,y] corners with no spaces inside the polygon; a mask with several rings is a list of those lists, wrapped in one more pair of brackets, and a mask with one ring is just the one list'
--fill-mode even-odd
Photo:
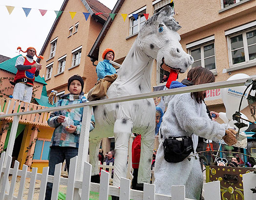
{"label": "white-framed window at right edge, directly above the white Diakonie balloon", "polygon": [[256,62],[256,28],[228,36],[230,66]]}

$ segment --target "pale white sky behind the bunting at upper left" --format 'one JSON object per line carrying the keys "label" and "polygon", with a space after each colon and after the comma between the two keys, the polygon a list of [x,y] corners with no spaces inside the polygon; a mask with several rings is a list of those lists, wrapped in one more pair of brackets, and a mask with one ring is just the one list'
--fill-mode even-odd
{"label": "pale white sky behind the bunting at upper left", "polygon": [[[99,1],[111,10],[117,2]],[[35,47],[39,54],[56,18],[54,11],[60,10],[63,2],[64,0],[0,0],[0,55],[15,57],[19,55],[17,47],[25,51],[30,46]],[[10,15],[6,5],[15,7]],[[27,17],[22,7],[32,8]],[[42,16],[38,9],[48,11]]]}

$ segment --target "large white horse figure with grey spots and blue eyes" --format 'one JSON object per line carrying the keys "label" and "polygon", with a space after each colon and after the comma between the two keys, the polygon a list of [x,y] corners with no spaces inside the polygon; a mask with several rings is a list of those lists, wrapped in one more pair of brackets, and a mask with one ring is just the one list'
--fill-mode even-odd
{"label": "large white horse figure with grey spots and blue eyes", "polygon": [[[170,16],[169,6],[146,21],[126,56],[117,79],[107,91],[108,98],[150,92],[154,59],[180,73],[184,73],[192,64],[192,56],[185,53],[179,43],[180,36],[176,31],[181,26]],[[96,127],[90,132],[89,139],[92,175],[99,173],[98,152],[102,138],[114,135],[113,185],[120,185],[121,177],[127,176],[128,141],[134,132],[142,135],[138,183],[150,182],[155,129],[153,98],[97,106],[94,108],[94,116]]]}

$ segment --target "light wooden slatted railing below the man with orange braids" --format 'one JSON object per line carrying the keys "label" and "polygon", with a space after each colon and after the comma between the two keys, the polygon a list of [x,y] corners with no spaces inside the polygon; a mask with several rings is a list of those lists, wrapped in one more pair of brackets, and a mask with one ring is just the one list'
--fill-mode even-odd
{"label": "light wooden slatted railing below the man with orange braids", "polygon": [[[17,112],[25,112],[25,111],[48,108],[45,106],[41,106],[33,103],[27,103],[27,102],[23,102],[23,101],[20,101],[17,99],[11,99],[11,98],[0,98],[0,105],[1,105],[0,111],[4,112],[5,114],[12,114]],[[50,117],[49,112],[26,114],[26,115],[21,115],[20,122],[40,125],[40,126],[48,126],[47,119],[49,117]],[[13,121],[13,117],[11,116],[6,117],[5,119]]]}

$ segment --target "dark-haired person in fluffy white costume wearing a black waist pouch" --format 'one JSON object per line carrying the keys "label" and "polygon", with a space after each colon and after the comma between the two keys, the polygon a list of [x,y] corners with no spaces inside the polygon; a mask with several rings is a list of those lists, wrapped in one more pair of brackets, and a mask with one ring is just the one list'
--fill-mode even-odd
{"label": "dark-haired person in fluffy white costume wearing a black waist pouch", "polygon": [[[213,73],[202,67],[192,68],[187,79],[181,83],[172,81],[170,89],[213,83]],[[192,134],[213,141],[224,139],[228,145],[237,141],[235,134],[226,130],[226,125],[212,121],[203,103],[205,91],[193,91],[165,97],[167,110],[159,130],[162,142],[157,149],[155,161],[156,193],[171,195],[172,185],[185,185],[186,198],[199,199],[203,186],[203,173],[199,159],[190,157],[195,153],[197,141]],[[164,183],[164,184],[163,184]]]}

